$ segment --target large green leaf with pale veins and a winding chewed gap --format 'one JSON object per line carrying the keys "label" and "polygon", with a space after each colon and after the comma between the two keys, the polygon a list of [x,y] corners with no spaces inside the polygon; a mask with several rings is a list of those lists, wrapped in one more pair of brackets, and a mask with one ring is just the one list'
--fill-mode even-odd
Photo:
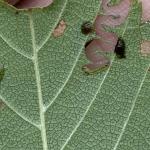
{"label": "large green leaf with pale veins and a winding chewed gap", "polygon": [[[116,30],[127,59],[112,56],[107,70],[92,75],[81,69],[88,37],[80,28],[94,21],[99,0],[16,11],[0,2],[0,149],[148,150],[150,60],[140,43],[150,37],[140,26],[141,6],[135,2]],[[67,28],[54,38],[60,20]]]}

